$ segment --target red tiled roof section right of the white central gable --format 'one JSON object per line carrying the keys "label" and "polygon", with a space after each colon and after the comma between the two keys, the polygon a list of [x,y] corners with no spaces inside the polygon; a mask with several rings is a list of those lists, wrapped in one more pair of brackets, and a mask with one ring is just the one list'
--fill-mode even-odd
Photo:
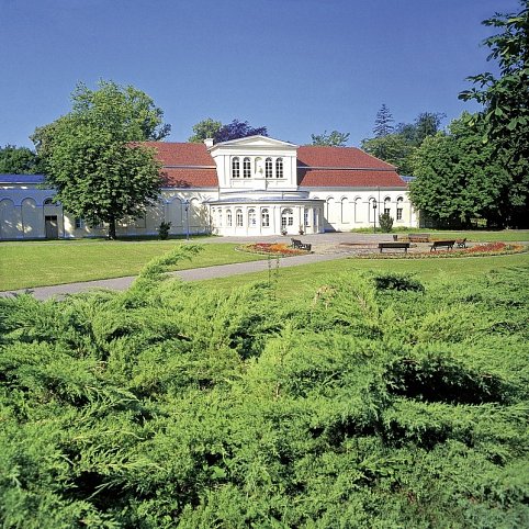
{"label": "red tiled roof section right of the white central gable", "polygon": [[405,187],[395,167],[356,147],[302,146],[297,184],[305,188]]}

